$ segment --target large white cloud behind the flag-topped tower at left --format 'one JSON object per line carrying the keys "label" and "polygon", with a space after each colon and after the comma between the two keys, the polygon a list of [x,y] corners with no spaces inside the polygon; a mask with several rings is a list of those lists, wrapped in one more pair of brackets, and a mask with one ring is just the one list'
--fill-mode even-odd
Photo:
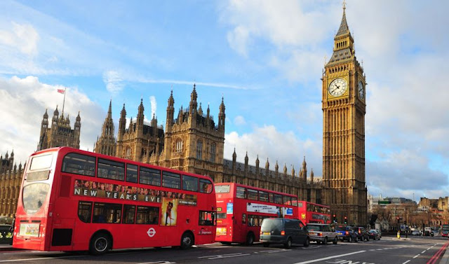
{"label": "large white cloud behind the flag-topped tower at left", "polygon": [[[48,117],[58,105],[62,112],[63,95],[57,92],[62,85],[41,83],[35,76],[10,79],[0,78],[0,105],[7,109],[2,112],[0,130],[0,152],[14,148],[15,162],[25,162],[36,151],[43,113],[48,109]],[[81,148],[93,149],[93,143],[101,131],[105,111],[77,88],[67,88],[65,116],[69,116],[73,127],[78,112],[81,117]]]}

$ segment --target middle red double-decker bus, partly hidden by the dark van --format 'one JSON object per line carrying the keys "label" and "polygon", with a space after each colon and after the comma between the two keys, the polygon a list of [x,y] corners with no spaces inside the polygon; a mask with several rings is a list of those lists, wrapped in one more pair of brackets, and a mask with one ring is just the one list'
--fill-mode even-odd
{"label": "middle red double-decker bus, partly hidden by the dark van", "polygon": [[222,244],[259,241],[260,225],[268,217],[297,218],[295,195],[239,183],[215,183],[217,234]]}

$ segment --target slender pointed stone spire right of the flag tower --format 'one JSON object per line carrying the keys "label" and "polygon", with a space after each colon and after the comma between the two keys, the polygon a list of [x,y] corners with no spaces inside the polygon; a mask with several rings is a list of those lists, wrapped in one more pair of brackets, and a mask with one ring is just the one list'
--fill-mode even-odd
{"label": "slender pointed stone spire right of the flag tower", "polygon": [[116,154],[116,139],[114,137],[114,121],[112,121],[112,100],[109,102],[109,109],[105,122],[103,123],[101,136],[97,138],[93,152],[114,156]]}

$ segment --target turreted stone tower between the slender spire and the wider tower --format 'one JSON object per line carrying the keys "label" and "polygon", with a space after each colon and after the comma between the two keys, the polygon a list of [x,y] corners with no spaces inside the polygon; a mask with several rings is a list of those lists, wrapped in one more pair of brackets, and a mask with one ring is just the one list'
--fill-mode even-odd
{"label": "turreted stone tower between the slender spire and the wider tower", "polygon": [[149,157],[163,150],[163,128],[157,126],[157,119],[153,116],[151,124],[145,124],[143,100],[140,100],[138,116],[130,118],[126,129],[126,110],[120,113],[119,133],[117,134],[116,156],[138,162],[149,162]]}

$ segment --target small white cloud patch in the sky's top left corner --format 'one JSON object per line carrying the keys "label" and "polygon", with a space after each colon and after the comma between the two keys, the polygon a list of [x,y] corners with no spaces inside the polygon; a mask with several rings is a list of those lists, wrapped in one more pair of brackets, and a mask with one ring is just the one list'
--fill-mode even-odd
{"label": "small white cloud patch in the sky's top left corner", "polygon": [[39,33],[29,24],[11,22],[12,30],[0,30],[0,44],[17,49],[20,53],[34,56],[38,53]]}

